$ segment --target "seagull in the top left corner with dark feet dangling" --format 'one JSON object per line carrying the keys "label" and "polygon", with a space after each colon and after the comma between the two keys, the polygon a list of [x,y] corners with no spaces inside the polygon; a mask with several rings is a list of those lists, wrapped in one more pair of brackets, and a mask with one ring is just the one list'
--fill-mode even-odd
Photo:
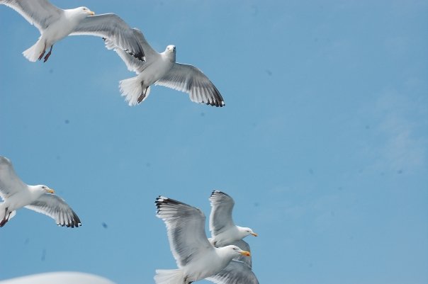
{"label": "seagull in the top left corner with dark feet dangling", "polygon": [[47,0],[0,0],[0,4],[13,8],[40,31],[35,45],[23,52],[31,62],[42,59],[50,48],[44,57],[46,62],[55,42],[67,35],[95,35],[108,39],[131,56],[144,59],[142,47],[131,28],[113,13],[94,16],[95,13],[86,7],[62,10]]}

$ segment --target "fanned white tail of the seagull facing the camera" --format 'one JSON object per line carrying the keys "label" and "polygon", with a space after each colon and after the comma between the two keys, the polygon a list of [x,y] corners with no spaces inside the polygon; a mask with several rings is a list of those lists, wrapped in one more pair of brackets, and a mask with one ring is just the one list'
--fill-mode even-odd
{"label": "fanned white tail of the seagull facing the camera", "polygon": [[119,89],[130,106],[141,103],[150,93],[150,86],[145,86],[138,76],[120,81]]}

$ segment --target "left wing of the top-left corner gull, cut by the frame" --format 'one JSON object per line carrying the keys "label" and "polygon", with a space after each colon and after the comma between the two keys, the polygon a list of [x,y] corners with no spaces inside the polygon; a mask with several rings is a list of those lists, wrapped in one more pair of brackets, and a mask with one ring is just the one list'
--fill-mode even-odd
{"label": "left wing of the top-left corner gull, cut by the frame", "polygon": [[20,13],[31,25],[35,25],[40,33],[64,13],[64,10],[47,0],[0,0],[0,4]]}

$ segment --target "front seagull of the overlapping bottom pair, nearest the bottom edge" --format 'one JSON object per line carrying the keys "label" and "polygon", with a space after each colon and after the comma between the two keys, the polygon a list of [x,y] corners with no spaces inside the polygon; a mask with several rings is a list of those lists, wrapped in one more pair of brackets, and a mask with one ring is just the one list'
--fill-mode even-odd
{"label": "front seagull of the overlapping bottom pair, nearest the bottom edge", "polygon": [[237,246],[212,246],[205,235],[205,215],[177,200],[159,196],[157,217],[167,225],[169,246],[178,269],[157,270],[156,284],[189,284],[206,278],[218,284],[258,284],[251,268],[236,256],[249,256]]}

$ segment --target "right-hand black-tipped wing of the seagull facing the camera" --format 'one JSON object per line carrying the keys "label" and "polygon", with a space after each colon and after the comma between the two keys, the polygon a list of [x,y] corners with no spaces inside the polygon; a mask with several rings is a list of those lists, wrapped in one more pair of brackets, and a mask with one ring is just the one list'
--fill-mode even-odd
{"label": "right-hand black-tipped wing of the seagull facing the camera", "polygon": [[191,101],[205,103],[210,106],[225,106],[225,101],[214,84],[198,68],[175,63],[169,72],[156,85],[184,91],[189,94]]}

